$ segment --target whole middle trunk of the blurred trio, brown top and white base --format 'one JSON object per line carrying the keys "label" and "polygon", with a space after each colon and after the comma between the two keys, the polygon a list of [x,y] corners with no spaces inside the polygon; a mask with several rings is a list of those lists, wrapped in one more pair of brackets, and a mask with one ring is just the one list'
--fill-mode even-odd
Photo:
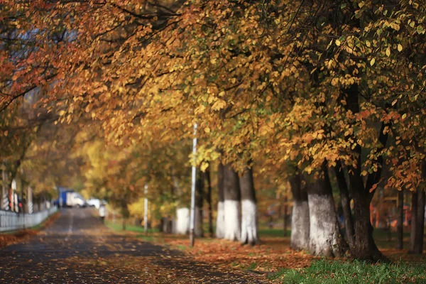
{"label": "whole middle trunk of the blurred trio, brown top and white base", "polygon": [[224,165],[224,239],[239,241],[241,236],[240,190],[238,174]]}

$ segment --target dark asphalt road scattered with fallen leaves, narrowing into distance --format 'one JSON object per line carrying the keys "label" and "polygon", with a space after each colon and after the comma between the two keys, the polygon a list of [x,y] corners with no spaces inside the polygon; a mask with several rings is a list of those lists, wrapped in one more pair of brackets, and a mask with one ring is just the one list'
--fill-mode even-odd
{"label": "dark asphalt road scattered with fallen leaves, narrowing into distance", "polygon": [[0,249],[0,283],[262,283],[180,251],[114,234],[91,209],[62,209],[26,243]]}

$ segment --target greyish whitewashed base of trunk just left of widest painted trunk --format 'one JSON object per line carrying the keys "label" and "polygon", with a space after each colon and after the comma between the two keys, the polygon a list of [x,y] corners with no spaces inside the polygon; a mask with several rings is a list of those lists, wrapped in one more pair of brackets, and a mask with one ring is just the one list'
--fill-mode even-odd
{"label": "greyish whitewashed base of trunk just left of widest painted trunk", "polygon": [[297,250],[309,249],[310,219],[307,201],[293,201],[291,214],[291,248]]}

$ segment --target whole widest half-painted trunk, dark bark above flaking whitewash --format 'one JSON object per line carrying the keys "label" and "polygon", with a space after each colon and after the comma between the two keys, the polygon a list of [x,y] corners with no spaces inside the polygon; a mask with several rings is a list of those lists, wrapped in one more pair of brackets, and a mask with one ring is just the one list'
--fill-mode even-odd
{"label": "whole widest half-painted trunk, dark bark above flaking whitewash", "polygon": [[307,200],[310,215],[310,253],[315,256],[342,256],[344,239],[339,231],[332,187],[325,164],[322,167],[322,177],[307,182]]}

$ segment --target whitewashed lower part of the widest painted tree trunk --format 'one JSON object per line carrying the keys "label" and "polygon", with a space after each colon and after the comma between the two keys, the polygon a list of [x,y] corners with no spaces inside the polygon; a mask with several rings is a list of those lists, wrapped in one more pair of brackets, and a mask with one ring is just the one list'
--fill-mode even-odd
{"label": "whitewashed lower part of the widest painted tree trunk", "polygon": [[309,194],[310,253],[340,256],[340,233],[332,195]]}

